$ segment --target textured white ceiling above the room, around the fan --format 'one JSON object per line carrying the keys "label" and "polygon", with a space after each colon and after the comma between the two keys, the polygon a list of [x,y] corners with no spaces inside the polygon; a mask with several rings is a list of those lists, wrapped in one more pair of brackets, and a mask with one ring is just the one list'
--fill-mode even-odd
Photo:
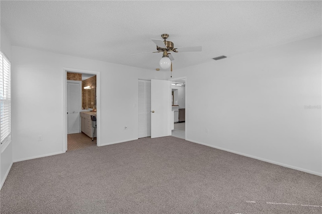
{"label": "textured white ceiling above the room, around the fan", "polygon": [[320,1],[1,1],[12,45],[155,69],[168,33],[174,69],[321,35]]}

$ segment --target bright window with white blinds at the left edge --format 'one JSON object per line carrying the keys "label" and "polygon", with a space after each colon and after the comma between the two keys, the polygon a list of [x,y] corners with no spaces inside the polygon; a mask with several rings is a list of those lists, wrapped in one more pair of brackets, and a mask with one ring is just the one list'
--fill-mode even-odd
{"label": "bright window with white blinds at the left edge", "polygon": [[9,141],[11,134],[11,65],[8,58],[0,52],[0,124],[1,144]]}

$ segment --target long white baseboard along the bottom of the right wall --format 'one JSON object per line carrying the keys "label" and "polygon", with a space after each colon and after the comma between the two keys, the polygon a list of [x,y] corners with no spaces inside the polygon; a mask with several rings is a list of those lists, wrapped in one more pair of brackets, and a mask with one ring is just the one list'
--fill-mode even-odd
{"label": "long white baseboard along the bottom of the right wall", "polygon": [[311,170],[308,170],[308,169],[303,169],[303,168],[300,168],[300,167],[291,166],[291,165],[288,165],[288,164],[284,164],[284,163],[280,163],[280,162],[276,162],[276,161],[256,157],[256,156],[253,156],[253,155],[244,154],[244,153],[241,153],[241,152],[232,151],[232,150],[217,147],[217,146],[212,146],[212,145],[205,144],[205,143],[200,143],[198,141],[193,141],[193,140],[189,140],[189,139],[187,139],[186,141],[201,144],[201,145],[204,145],[204,146],[209,146],[209,147],[212,147],[212,148],[215,148],[215,149],[220,149],[220,150],[223,150],[223,151],[226,151],[226,152],[231,152],[231,153],[234,153],[234,154],[237,154],[237,155],[243,155],[243,156],[246,156],[246,157],[249,157],[249,158],[254,158],[254,159],[257,159],[257,160],[265,161],[265,162],[276,164],[276,165],[279,165],[279,166],[284,166],[284,167],[295,169],[295,170],[298,170],[298,171],[307,172],[307,173],[310,173],[310,174],[313,174],[313,175],[322,176],[322,173],[320,173],[320,172],[315,172],[315,171],[311,171]]}

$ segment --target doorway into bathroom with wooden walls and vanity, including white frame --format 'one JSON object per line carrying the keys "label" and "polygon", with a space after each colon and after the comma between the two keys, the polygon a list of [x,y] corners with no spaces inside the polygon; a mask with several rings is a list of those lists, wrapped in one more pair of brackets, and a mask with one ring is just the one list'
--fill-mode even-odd
{"label": "doorway into bathroom with wooden walls and vanity, including white frame", "polygon": [[[81,98],[78,99],[78,118],[72,121],[77,122],[73,123],[73,125],[74,130],[76,130],[77,126],[78,132],[73,132],[73,134],[69,134],[70,120],[68,119],[70,111],[68,108],[70,101],[68,96],[70,96],[70,90],[68,88],[67,82],[70,82],[72,80],[67,79],[71,78],[70,75],[78,75],[77,78],[79,78],[79,76],[81,76],[81,78],[83,77],[81,80],[77,79],[81,82],[82,85],[80,87]],[[63,77],[63,152],[83,149],[89,146],[100,146],[100,72],[63,68]],[[86,84],[86,86],[88,87],[86,87],[84,84]],[[84,87],[86,87],[87,89],[85,90]],[[86,91],[86,93],[84,91]],[[74,114],[75,112],[76,111],[73,111]],[[95,116],[96,121],[92,121],[91,116]],[[74,119],[76,117],[72,118]],[[85,132],[85,130],[88,132]]]}

